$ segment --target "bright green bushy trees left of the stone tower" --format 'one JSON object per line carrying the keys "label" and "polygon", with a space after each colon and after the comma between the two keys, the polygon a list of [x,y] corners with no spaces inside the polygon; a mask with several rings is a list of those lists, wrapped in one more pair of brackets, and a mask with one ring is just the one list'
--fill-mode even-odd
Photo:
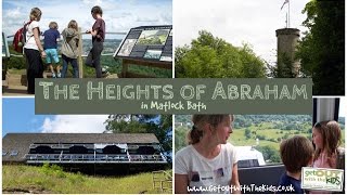
{"label": "bright green bushy trees left of the stone tower", "polygon": [[237,48],[202,30],[191,46],[176,48],[178,78],[261,78],[265,63],[248,44]]}

